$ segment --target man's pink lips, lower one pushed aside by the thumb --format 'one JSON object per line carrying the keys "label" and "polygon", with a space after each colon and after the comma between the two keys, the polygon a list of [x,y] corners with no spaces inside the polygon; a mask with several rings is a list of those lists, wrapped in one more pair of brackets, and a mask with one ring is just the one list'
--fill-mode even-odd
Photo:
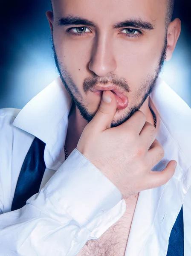
{"label": "man's pink lips, lower one pushed aside by the thumb", "polygon": [[129,100],[127,96],[119,90],[117,87],[113,85],[107,86],[96,86],[95,88],[90,89],[95,95],[102,96],[103,91],[112,91],[116,96],[117,109],[122,110],[127,108]]}

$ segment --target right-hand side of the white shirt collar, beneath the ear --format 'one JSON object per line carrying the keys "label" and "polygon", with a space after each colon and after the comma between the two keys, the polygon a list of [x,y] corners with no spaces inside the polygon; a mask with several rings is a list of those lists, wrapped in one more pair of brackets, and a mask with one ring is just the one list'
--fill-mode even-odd
{"label": "right-hand side of the white shirt collar, beneath the ear", "polygon": [[[176,148],[181,159],[184,159],[181,167],[188,169],[191,166],[191,108],[160,77],[150,94],[149,102],[159,121],[157,138],[168,149],[166,153],[169,152],[169,157],[172,147]],[[172,144],[166,145],[170,141]],[[174,157],[178,163],[182,162],[178,156]]]}

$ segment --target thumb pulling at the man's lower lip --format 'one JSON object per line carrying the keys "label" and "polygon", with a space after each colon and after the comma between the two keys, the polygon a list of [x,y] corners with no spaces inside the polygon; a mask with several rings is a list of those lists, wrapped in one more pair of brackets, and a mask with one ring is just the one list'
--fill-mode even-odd
{"label": "thumb pulling at the man's lower lip", "polygon": [[102,131],[111,127],[111,122],[116,114],[116,97],[111,91],[103,91],[101,104],[91,123]]}

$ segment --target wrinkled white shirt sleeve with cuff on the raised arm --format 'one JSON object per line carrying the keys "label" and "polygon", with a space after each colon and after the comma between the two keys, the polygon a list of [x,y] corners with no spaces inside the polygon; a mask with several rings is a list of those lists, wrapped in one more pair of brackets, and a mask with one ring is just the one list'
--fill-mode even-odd
{"label": "wrinkled white shirt sleeve with cuff on the raised arm", "polygon": [[122,217],[121,198],[119,189],[74,149],[23,208],[0,215],[1,255],[74,256]]}

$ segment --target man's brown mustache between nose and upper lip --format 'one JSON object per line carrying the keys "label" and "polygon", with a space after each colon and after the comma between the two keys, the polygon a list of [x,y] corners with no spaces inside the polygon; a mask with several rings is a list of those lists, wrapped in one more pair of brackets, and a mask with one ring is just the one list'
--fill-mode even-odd
{"label": "man's brown mustache between nose and upper lip", "polygon": [[113,84],[115,87],[123,89],[128,93],[131,92],[127,80],[124,78],[119,78],[114,74],[110,74],[110,76],[104,78],[96,75],[86,78],[83,83],[84,92],[87,94],[88,91],[96,87],[97,84]]}

